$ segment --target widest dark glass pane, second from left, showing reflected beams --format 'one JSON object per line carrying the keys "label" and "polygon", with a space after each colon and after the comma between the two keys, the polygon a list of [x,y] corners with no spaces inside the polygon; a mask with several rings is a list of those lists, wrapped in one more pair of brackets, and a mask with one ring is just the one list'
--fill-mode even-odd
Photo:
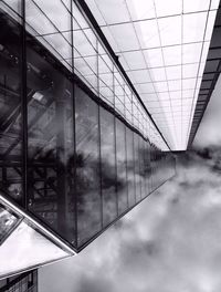
{"label": "widest dark glass pane, second from left, showing reflected beams", "polygon": [[27,62],[29,208],[75,244],[73,86],[30,35]]}

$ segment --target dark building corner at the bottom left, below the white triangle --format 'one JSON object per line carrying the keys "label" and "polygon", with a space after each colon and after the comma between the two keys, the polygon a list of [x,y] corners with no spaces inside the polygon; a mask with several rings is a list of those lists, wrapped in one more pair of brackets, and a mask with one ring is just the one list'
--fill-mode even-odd
{"label": "dark building corner at the bottom left, below the white triangle", "polygon": [[0,280],[0,292],[38,292],[38,270]]}

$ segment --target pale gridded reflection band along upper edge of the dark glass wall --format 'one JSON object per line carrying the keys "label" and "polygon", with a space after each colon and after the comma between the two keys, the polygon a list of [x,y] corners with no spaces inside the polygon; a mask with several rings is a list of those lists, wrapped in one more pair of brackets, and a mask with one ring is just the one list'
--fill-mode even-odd
{"label": "pale gridded reflection band along upper edge of the dark glass wall", "polygon": [[[6,1],[6,4],[21,14],[15,2]],[[86,20],[86,15],[83,15],[84,11],[81,12],[78,6],[71,0],[56,1],[54,8],[51,6],[50,1],[28,1],[27,30],[130,125],[155,142],[159,148],[168,150],[159,128],[137,93],[130,88],[128,77],[125,79],[125,74],[118,69],[118,62],[110,58],[96,30]],[[157,129],[155,133],[149,132],[150,125]]]}

